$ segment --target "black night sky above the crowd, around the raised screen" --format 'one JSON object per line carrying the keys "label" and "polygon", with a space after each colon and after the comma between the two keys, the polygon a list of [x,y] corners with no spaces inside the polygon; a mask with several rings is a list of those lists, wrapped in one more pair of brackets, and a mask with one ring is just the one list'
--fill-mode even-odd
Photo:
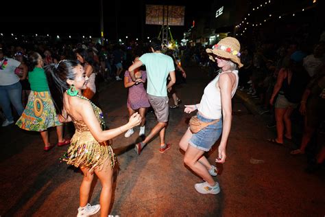
{"label": "black night sky above the crowd, around the raised screen", "polygon": [[[99,37],[100,1],[3,1],[0,33],[66,34]],[[145,25],[145,4],[184,5],[184,26],[171,26],[173,37],[180,40],[193,19],[210,10],[211,1],[105,1],[104,33],[106,38],[141,38],[158,36],[161,26]],[[142,20],[141,20],[142,19]]]}

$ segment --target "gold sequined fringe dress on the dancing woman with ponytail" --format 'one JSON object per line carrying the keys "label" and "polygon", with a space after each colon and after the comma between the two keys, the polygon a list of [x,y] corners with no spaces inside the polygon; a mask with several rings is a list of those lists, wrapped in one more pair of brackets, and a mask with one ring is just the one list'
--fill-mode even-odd
{"label": "gold sequined fringe dress on the dancing woman with ponytail", "polygon": [[[77,97],[88,100],[82,95]],[[91,102],[90,100],[88,100]],[[93,110],[97,117],[101,128],[105,129],[104,116],[95,104],[91,102]],[[90,170],[101,170],[104,162],[108,159],[110,166],[113,168],[117,159],[108,141],[97,141],[88,127],[83,121],[78,121],[71,116],[72,122],[75,126],[75,134],[71,138],[71,145],[66,154],[62,157],[62,161],[67,161],[67,164],[74,165],[75,167],[86,167]]]}

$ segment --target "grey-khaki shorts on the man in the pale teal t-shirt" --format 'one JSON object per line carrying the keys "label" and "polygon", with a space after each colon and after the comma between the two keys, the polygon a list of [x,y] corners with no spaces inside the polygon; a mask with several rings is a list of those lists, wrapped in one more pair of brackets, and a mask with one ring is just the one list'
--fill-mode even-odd
{"label": "grey-khaki shorts on the man in the pale teal t-shirt", "polygon": [[155,96],[148,94],[148,100],[154,109],[158,122],[168,122],[169,106],[167,96]]}

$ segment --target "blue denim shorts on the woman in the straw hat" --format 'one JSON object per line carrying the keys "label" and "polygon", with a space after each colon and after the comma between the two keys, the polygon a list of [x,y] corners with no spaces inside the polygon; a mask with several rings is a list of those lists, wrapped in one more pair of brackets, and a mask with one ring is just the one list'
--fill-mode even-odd
{"label": "blue denim shorts on the woman in the straw hat", "polygon": [[[197,118],[201,122],[213,122],[215,119],[208,119],[197,113]],[[189,144],[194,148],[208,152],[222,133],[222,118],[219,122],[203,128],[198,133],[193,133]]]}

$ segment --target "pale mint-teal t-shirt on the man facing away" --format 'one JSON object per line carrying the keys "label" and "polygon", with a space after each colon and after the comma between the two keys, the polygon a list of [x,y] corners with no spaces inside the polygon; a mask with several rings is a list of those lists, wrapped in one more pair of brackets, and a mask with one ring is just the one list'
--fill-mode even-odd
{"label": "pale mint-teal t-shirt on the man facing away", "polygon": [[167,96],[167,77],[175,71],[173,59],[161,53],[143,54],[139,60],[147,69],[147,93],[155,96]]}

